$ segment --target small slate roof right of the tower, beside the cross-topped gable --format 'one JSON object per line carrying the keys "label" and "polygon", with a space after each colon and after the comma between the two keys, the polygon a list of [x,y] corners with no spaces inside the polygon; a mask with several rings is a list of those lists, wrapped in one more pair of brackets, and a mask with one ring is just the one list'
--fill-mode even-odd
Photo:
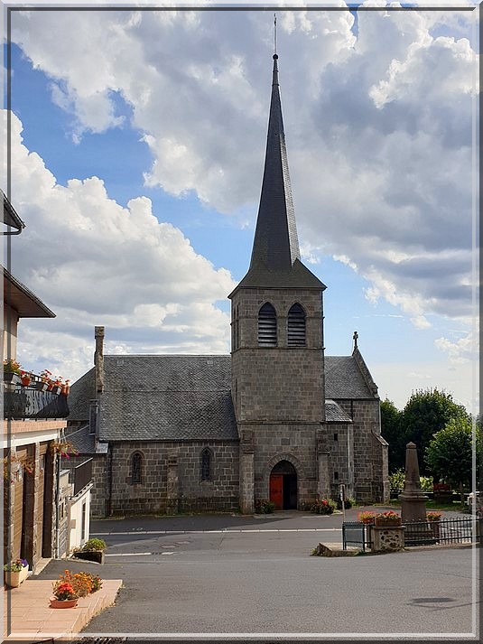
{"label": "small slate roof right of the tower, beside the cross-topped gable", "polygon": [[353,356],[326,356],[325,395],[335,400],[376,398],[367,387],[358,363]]}

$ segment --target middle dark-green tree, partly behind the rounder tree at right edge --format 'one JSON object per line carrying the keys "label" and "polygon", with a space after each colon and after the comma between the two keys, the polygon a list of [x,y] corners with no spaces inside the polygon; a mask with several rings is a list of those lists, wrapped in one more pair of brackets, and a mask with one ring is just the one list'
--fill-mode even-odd
{"label": "middle dark-green tree, partly behind the rounder tree at right edge", "polygon": [[451,419],[469,419],[465,407],[454,402],[452,396],[438,389],[419,389],[413,392],[401,413],[405,441],[413,441],[417,447],[418,462],[422,475],[428,473],[424,461],[426,448],[432,437]]}

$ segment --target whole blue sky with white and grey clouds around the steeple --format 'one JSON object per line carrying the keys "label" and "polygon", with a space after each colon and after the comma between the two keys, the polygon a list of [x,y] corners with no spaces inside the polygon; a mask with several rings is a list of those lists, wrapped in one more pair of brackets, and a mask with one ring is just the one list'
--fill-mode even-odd
{"label": "whole blue sky with white and grey clouds around the steeple", "polygon": [[[358,29],[347,12],[278,17],[302,258],[328,286],[329,355],[358,330],[381,397],[404,406],[441,387],[471,408],[470,14],[382,15],[359,14]],[[33,11],[12,24],[12,201],[27,225],[12,267],[57,313],[22,322],[23,366],[79,378],[95,324],[107,352],[228,352],[271,14]]]}

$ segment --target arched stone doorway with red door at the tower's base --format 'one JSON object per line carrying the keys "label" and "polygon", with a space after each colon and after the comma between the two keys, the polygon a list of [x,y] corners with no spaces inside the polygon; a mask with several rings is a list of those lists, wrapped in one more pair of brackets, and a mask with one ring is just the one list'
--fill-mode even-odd
{"label": "arched stone doorway with red door at the tower's base", "polygon": [[266,466],[268,498],[276,509],[297,509],[302,466],[292,454],[278,454]]}

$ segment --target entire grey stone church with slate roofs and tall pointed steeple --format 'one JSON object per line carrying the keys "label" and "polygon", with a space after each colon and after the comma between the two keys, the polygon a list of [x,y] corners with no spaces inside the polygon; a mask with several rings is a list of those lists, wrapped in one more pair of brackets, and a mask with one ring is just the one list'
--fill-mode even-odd
{"label": "entire grey stone church with slate roofs and tall pointed steeple", "polygon": [[[250,266],[228,295],[231,352],[105,355],[70,388],[67,438],[93,458],[96,516],[308,509],[389,499],[376,384],[358,349],[325,356],[320,279],[302,264],[274,54]],[[108,332],[108,331],[107,331]]]}

